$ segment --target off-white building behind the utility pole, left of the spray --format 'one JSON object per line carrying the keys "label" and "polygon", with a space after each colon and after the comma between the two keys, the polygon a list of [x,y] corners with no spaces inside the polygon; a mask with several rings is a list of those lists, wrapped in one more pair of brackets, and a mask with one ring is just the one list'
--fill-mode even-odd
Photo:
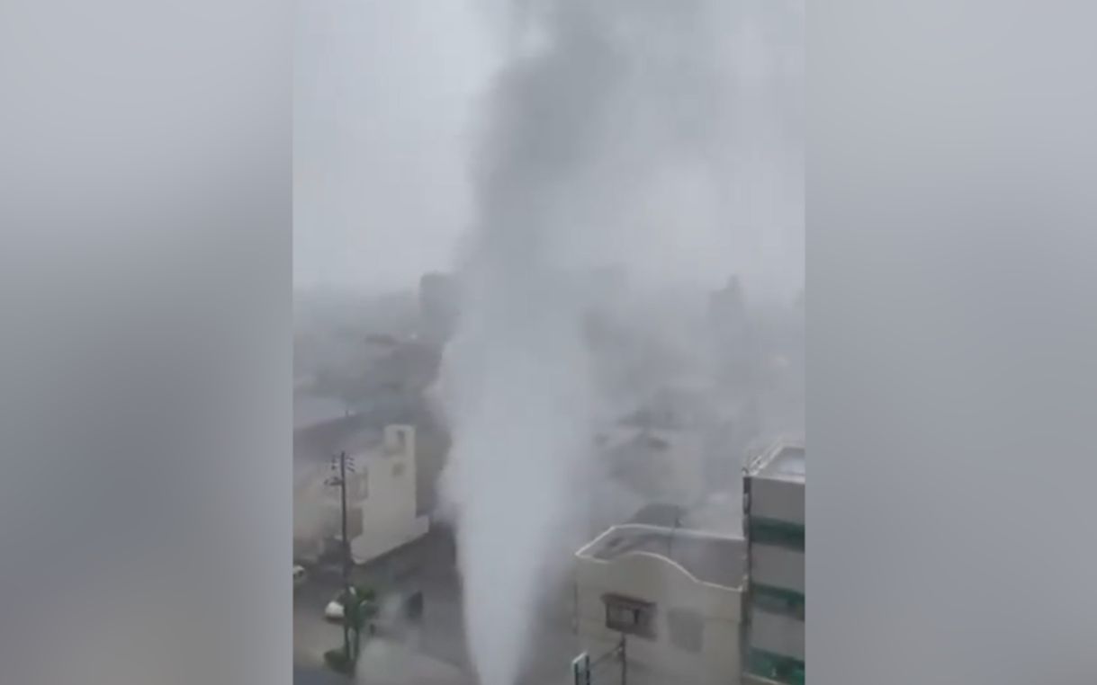
{"label": "off-white building behind the utility pole, left of the spray", "polygon": [[[417,502],[416,433],[409,425],[361,431],[340,441],[347,477],[348,537],[355,563],[366,563],[425,535]],[[333,450],[332,450],[333,454]],[[316,558],[339,539],[340,493],[327,481],[330,457],[294,465],[294,556]]]}

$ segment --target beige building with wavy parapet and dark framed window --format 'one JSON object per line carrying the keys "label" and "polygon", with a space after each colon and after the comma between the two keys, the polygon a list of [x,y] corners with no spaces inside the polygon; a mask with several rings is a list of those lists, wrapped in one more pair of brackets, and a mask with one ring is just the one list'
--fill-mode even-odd
{"label": "beige building with wavy parapet and dark framed window", "polygon": [[633,684],[736,683],[744,541],[678,527],[681,511],[645,507],[634,521],[652,523],[612,526],[576,552],[578,642],[595,661],[623,647]]}

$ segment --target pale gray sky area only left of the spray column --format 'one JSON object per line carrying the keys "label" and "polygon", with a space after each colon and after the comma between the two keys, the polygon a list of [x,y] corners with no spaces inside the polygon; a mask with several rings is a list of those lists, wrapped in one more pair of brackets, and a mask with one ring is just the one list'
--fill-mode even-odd
{"label": "pale gray sky area only left of the spray column", "polygon": [[470,220],[471,114],[494,71],[477,8],[299,3],[296,287],[388,289],[450,265]]}

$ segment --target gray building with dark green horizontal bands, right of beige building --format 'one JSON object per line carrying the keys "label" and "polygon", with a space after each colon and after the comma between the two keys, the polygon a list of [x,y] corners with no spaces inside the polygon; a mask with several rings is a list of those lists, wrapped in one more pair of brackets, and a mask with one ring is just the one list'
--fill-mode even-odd
{"label": "gray building with dark green horizontal bands, right of beige building", "polygon": [[747,685],[804,682],[805,472],[803,444],[778,441],[744,473]]}

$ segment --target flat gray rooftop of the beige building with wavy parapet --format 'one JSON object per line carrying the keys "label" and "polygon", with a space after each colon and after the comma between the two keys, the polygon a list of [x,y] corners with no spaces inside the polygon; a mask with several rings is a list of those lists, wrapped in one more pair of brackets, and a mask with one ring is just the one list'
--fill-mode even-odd
{"label": "flat gray rooftop of the beige building with wavy parapet", "polygon": [[699,581],[724,587],[742,587],[746,574],[742,538],[678,527],[638,523],[613,526],[577,553],[599,561],[631,553],[656,555],[674,561]]}

